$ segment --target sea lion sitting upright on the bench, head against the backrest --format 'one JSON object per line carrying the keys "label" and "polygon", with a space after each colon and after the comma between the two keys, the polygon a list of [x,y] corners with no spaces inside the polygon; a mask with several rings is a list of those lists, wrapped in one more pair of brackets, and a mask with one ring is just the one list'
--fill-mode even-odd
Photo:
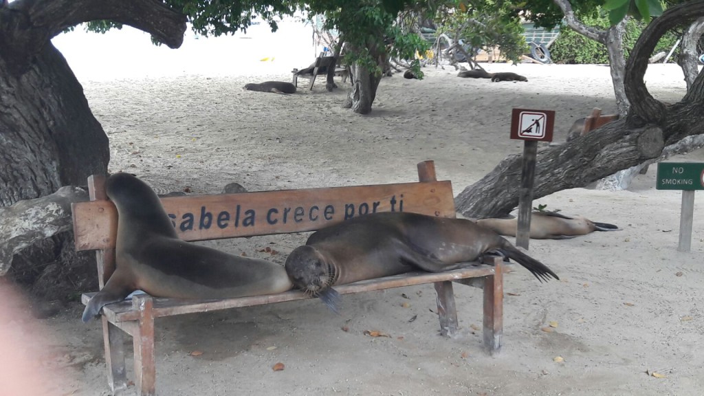
{"label": "sea lion sitting upright on the bench, head against the backrest", "polygon": [[84,322],[134,290],[156,297],[219,299],[291,289],[282,266],[180,240],[156,193],[134,175],[115,173],[105,187],[118,209],[115,273],[86,305]]}

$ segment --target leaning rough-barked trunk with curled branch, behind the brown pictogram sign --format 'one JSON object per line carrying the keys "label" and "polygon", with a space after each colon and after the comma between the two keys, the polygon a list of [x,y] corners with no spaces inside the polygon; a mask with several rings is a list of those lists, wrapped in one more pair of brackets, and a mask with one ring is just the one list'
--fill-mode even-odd
{"label": "leaning rough-barked trunk with curled branch, behind the brown pictogram sign", "polygon": [[[648,93],[643,76],[648,56],[667,30],[704,16],[704,0],[668,8],[646,27],[631,51],[624,75],[631,104],[627,118],[616,120],[558,147],[538,153],[534,198],[584,187],[643,161],[656,159],[666,146],[704,130],[704,74],[697,76],[677,104],[665,106]],[[482,180],[465,188],[455,206],[472,218],[500,217],[518,204],[520,156],[509,156]]]}

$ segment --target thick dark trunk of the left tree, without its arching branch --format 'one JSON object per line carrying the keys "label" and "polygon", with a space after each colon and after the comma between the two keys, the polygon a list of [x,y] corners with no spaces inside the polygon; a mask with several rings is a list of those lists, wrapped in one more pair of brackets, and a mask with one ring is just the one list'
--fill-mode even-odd
{"label": "thick dark trunk of the left tree, without its arching branch", "polygon": [[50,42],[19,76],[0,56],[0,97],[0,206],[106,173],[108,137]]}

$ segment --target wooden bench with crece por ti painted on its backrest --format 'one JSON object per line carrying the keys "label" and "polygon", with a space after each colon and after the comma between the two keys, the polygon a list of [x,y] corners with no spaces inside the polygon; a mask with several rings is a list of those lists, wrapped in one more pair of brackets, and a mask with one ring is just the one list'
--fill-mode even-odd
{"label": "wooden bench with crece por ti painted on its backrest", "polygon": [[[161,199],[177,232],[184,240],[300,233],[343,221],[372,211],[403,209],[421,214],[454,217],[455,205],[449,181],[437,181],[434,163],[418,164],[420,182],[389,185],[314,188],[211,194]],[[73,230],[77,250],[96,250],[99,286],[103,287],[115,270],[115,235],[117,211],[106,198],[104,176],[88,179],[90,202],[74,203]],[[210,214],[211,221],[201,221]],[[227,219],[225,221],[224,219]],[[206,228],[204,225],[208,223]],[[190,225],[190,226],[189,226]],[[494,265],[475,266],[444,273],[413,272],[336,286],[340,294],[382,290],[391,287],[434,283],[437,292],[438,316],[443,335],[458,330],[453,282],[484,289],[484,346],[489,352],[501,347],[503,329],[503,272],[515,264],[494,259]],[[82,295],[83,304],[95,295]],[[183,300],[135,295],[132,301],[108,304],[101,311],[108,383],[113,394],[127,388],[125,371],[125,333],[132,336],[134,346],[134,384],[139,395],[155,393],[154,319],[163,316],[190,314],[308,299],[300,290],[277,295],[262,295],[219,300]],[[322,304],[320,309],[326,309]]]}

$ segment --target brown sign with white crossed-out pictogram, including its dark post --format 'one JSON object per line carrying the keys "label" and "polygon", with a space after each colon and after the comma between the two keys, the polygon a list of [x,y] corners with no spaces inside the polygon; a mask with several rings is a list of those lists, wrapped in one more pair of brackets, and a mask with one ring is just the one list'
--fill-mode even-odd
{"label": "brown sign with white crossed-out pictogram, including its dark post", "polygon": [[555,111],[513,109],[511,113],[511,139],[523,140],[521,190],[518,200],[518,225],[516,245],[528,249],[530,240],[530,215],[533,205],[533,183],[538,142],[553,141]]}

